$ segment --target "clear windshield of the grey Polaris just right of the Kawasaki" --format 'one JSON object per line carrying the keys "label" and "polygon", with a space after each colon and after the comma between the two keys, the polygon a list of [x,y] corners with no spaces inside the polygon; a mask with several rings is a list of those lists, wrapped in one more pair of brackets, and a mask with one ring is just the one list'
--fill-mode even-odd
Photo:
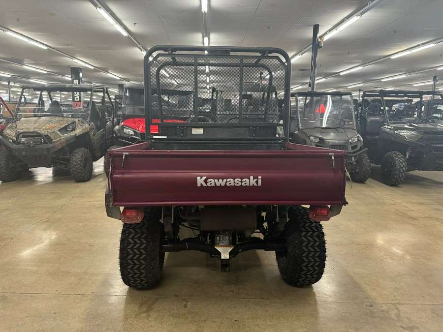
{"label": "clear windshield of the grey Polaris just right of the Kawasaki", "polygon": [[355,128],[351,95],[316,94],[297,96],[292,117],[299,119],[300,128]]}

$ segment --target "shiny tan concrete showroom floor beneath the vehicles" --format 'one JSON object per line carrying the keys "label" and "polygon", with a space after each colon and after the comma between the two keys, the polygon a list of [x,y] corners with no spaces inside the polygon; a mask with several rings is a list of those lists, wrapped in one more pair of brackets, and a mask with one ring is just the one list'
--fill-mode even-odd
{"label": "shiny tan concrete showroom floor beneath the vehicles", "polygon": [[0,183],[1,331],[443,331],[443,173],[400,187],[347,190],[323,223],[328,261],[314,286],[280,278],[271,252],[246,252],[231,272],[199,252],[166,257],[148,291],[120,279],[121,223],[93,179],[35,169]]}

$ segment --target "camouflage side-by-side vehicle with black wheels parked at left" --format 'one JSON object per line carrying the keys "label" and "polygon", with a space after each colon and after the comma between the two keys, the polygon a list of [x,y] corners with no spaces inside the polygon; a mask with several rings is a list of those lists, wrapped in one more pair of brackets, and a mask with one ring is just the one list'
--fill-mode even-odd
{"label": "camouflage side-by-side vehicle with black wheels parked at left", "polygon": [[22,87],[13,122],[0,137],[0,181],[15,181],[33,167],[62,167],[75,181],[89,181],[93,161],[111,145],[114,122],[105,86]]}

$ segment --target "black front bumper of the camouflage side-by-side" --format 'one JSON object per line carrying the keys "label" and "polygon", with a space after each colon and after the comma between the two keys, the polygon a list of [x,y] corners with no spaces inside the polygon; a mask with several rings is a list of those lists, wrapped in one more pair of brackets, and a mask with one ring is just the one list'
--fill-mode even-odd
{"label": "black front bumper of the camouflage side-by-side", "polygon": [[75,136],[50,144],[27,146],[15,144],[0,136],[0,145],[11,151],[14,156],[26,163],[28,167],[52,167],[54,153],[75,141]]}

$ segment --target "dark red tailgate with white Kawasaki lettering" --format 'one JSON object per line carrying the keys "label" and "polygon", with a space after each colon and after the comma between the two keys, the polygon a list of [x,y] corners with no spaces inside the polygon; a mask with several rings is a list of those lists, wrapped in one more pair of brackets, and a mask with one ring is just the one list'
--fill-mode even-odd
{"label": "dark red tailgate with white Kawasaki lettering", "polygon": [[108,152],[109,205],[342,205],[345,201],[346,151],[294,144],[287,144],[285,151],[147,148],[143,143]]}

